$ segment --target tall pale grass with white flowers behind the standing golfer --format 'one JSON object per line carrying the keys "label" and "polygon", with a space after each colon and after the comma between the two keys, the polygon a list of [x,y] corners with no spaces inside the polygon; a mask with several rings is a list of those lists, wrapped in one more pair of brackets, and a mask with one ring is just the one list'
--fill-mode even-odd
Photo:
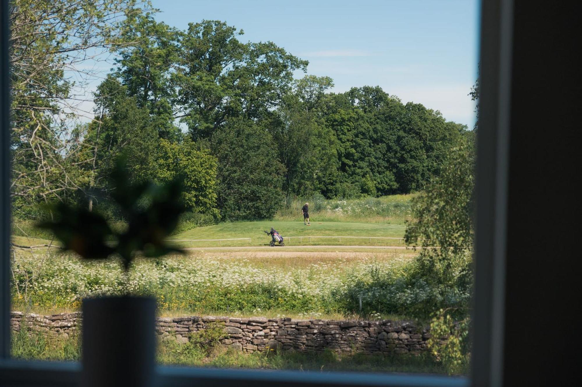
{"label": "tall pale grass with white flowers behind the standing golfer", "polygon": [[325,199],[322,195],[289,198],[275,214],[275,219],[296,219],[301,216],[301,207],[309,203],[309,214],[313,221],[404,224],[412,218],[410,200],[415,195],[411,193],[350,200]]}

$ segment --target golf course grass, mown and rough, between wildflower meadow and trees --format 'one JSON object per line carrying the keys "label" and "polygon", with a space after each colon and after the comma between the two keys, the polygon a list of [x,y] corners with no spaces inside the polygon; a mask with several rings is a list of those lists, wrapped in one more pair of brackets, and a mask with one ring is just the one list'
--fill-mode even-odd
{"label": "golf course grass, mown and rough, between wildflower meadow and trees", "polygon": [[[187,248],[220,246],[268,246],[270,237],[262,232],[274,227],[286,237],[285,245],[343,245],[343,246],[403,246],[398,239],[311,238],[310,236],[368,236],[402,238],[406,221],[411,219],[410,200],[416,194],[391,195],[381,198],[352,200],[312,198],[289,200],[272,220],[223,222],[216,225],[191,228],[168,239],[231,239],[251,238],[249,241],[198,241],[175,243]],[[310,203],[311,226],[303,225],[301,206]],[[51,243],[51,235],[38,230],[34,221],[15,218],[12,242],[21,246]],[[113,228],[122,228],[113,222]],[[193,227],[193,226],[192,226]],[[299,238],[289,238],[299,237]],[[52,245],[58,242],[53,241]]]}

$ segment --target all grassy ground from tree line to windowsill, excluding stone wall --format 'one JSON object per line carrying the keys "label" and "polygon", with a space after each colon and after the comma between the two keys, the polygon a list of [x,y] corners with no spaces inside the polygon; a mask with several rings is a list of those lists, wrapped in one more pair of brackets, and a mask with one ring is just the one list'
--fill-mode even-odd
{"label": "all grassy ground from tree line to windowsill, excluding stone wall", "polygon": [[[409,263],[417,251],[394,249],[404,246],[402,239],[374,237],[403,238],[404,223],[410,219],[411,196],[348,201],[308,199],[313,205],[311,226],[303,224],[299,210],[294,208],[300,208],[303,200],[295,200],[273,220],[192,228],[169,239],[250,238],[250,241],[173,242],[194,249],[186,255],[137,259],[128,278],[123,277],[116,260],[86,262],[72,253],[62,254],[59,249],[15,249],[13,310],[40,314],[74,311],[79,310],[84,297],[130,291],[154,296],[158,300],[157,314],[164,317],[408,320],[410,306],[423,302],[427,291],[430,292],[428,288],[413,291],[406,284]],[[285,248],[268,247],[271,237],[262,231],[271,227],[286,238]],[[13,235],[12,242],[21,246],[59,245],[47,239],[50,235],[29,228],[20,227],[15,234],[36,238]],[[340,236],[343,238],[339,239]],[[15,334],[12,344],[13,356],[19,359],[79,359],[79,342],[74,337],[51,341],[41,335]],[[264,370],[446,372],[428,353],[366,356],[327,350],[268,356],[232,352],[219,345],[200,346],[196,342],[184,345],[175,341],[159,342],[158,361]]]}

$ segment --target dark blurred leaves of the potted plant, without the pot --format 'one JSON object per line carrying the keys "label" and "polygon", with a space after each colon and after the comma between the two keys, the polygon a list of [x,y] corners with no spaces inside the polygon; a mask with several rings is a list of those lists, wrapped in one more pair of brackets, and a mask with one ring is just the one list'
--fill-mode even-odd
{"label": "dark blurred leaves of the potted plant, without the pot", "polygon": [[127,173],[125,157],[118,159],[111,178],[115,184],[111,196],[128,224],[125,231],[113,231],[101,214],[65,203],[49,206],[55,220],[40,223],[38,227],[52,231],[66,250],[73,250],[84,259],[106,259],[118,254],[126,270],[136,253],[159,257],[182,252],[166,245],[165,239],[175,230],[184,211],[183,182],[133,184]]}

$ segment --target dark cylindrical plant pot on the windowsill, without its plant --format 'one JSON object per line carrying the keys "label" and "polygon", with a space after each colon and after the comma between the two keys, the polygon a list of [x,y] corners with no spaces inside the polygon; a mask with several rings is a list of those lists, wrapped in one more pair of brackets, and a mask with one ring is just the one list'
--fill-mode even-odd
{"label": "dark cylindrical plant pot on the windowsill, without its plant", "polygon": [[154,382],[155,299],[83,300],[84,387],[149,387]]}

